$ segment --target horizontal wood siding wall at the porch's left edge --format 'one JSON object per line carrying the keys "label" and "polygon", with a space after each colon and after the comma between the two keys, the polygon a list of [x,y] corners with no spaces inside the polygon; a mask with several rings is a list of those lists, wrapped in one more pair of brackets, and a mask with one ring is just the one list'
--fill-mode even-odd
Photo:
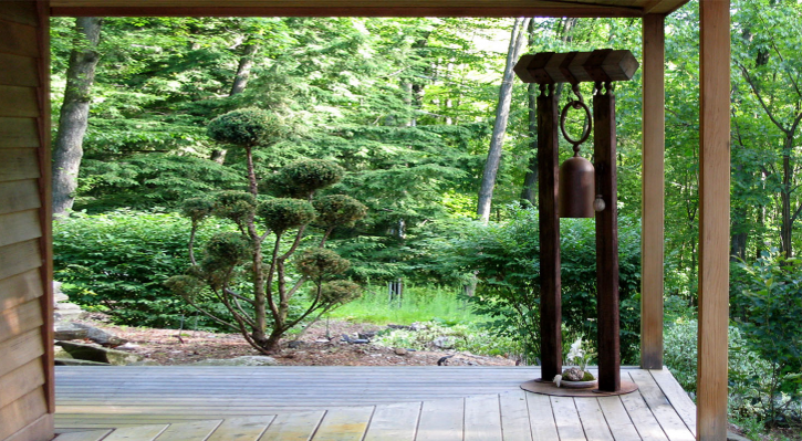
{"label": "horizontal wood siding wall at the porch's left edge", "polygon": [[53,437],[48,11],[0,8],[0,440]]}

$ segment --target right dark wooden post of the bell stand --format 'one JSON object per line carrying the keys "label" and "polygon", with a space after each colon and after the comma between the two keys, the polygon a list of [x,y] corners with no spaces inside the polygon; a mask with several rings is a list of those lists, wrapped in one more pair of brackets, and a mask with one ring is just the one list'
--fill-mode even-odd
{"label": "right dark wooden post of the bell stand", "polygon": [[618,308],[618,196],[615,154],[615,95],[612,83],[596,83],[593,95],[593,151],[596,195],[596,312],[598,390],[621,389],[621,315]]}

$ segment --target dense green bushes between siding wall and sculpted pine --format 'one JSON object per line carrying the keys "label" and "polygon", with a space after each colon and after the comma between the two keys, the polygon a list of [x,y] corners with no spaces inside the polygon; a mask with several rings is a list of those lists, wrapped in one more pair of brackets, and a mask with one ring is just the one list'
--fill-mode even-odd
{"label": "dense green bushes between siding wall and sculpted pine", "polygon": [[[189,265],[188,228],[188,220],[169,213],[73,213],[53,223],[54,279],[64,282],[71,301],[107,312],[117,323],[178,327],[196,312],[164,282]],[[199,240],[227,229],[209,224]]]}

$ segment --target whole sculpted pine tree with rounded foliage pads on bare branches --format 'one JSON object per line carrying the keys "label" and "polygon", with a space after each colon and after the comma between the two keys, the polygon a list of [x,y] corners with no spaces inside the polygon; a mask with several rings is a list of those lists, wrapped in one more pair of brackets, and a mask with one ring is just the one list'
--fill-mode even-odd
{"label": "whole sculpted pine tree with rounded foliage pads on bare branches", "polygon": [[[281,136],[281,122],[272,114],[256,108],[233,111],[213,119],[208,132],[217,141],[244,149],[249,191],[223,191],[211,199],[185,201],[184,214],[191,220],[192,266],[186,275],[170,277],[167,285],[206,316],[240,332],[257,350],[272,354],[293,326],[360,295],[358,285],[336,280],[350,262],[324,246],[335,228],[352,227],[367,209],[344,195],[315,198],[319,190],[343,176],[340,166],[325,160],[285,166],[261,182],[278,197],[260,197],[252,150],[270,146]],[[210,216],[231,220],[239,232],[213,235],[198,259],[195,235]],[[322,239],[299,252],[310,224],[322,231]],[[296,271],[292,272],[288,264],[295,254]],[[292,309],[291,314],[291,300],[306,282],[314,285],[309,302],[303,311]],[[209,295],[228,314],[201,307],[198,297]]]}

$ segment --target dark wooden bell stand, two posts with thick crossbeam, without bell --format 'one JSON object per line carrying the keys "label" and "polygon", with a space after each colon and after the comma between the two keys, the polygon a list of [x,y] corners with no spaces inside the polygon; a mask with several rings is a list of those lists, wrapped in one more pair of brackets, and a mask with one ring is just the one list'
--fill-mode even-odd
{"label": "dark wooden bell stand, two posts with thick crossbeam, without bell", "polygon": [[560,217],[558,213],[560,112],[555,84],[575,85],[592,82],[594,83],[595,195],[601,195],[605,204],[604,210],[597,211],[595,214],[597,391],[602,393],[632,391],[622,390],[621,382],[615,95],[612,83],[631,80],[637,69],[638,62],[629,51],[611,49],[593,52],[543,52],[523,55],[514,66],[514,72],[521,81],[540,85],[537,114],[542,381],[551,381],[554,376],[562,374]]}

